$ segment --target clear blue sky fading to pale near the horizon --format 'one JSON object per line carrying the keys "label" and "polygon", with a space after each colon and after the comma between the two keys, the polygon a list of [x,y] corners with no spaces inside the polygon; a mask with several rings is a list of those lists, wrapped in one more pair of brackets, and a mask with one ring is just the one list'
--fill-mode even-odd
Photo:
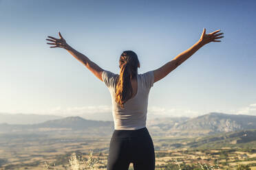
{"label": "clear blue sky fading to pale near the horizon", "polygon": [[0,112],[111,114],[107,87],[65,49],[61,32],[100,67],[119,72],[122,51],[138,54],[139,73],[158,69],[206,33],[211,42],[149,94],[149,114],[256,115],[255,1],[0,0]]}

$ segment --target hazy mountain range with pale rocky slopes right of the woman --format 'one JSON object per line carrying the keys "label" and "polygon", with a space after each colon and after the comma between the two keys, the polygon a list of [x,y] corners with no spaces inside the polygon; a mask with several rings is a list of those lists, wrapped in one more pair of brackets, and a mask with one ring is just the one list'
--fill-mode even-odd
{"label": "hazy mountain range with pale rocky slopes right of the woman", "polygon": [[[200,117],[173,119],[155,123],[152,130],[169,136],[200,136],[221,132],[256,129],[256,116],[210,112]],[[170,122],[170,123],[168,123]]]}

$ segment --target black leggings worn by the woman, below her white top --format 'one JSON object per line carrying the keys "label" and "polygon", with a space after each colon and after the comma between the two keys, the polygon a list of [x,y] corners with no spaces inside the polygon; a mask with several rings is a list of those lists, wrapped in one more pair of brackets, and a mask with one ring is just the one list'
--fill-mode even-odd
{"label": "black leggings worn by the woman, below her white top", "polygon": [[107,158],[107,170],[127,170],[130,162],[134,170],[155,169],[155,150],[147,130],[114,130]]}

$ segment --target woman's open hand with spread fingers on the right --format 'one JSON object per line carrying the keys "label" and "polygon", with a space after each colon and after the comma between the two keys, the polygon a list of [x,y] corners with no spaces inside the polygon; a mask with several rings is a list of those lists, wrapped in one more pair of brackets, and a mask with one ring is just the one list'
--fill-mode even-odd
{"label": "woman's open hand with spread fingers on the right", "polygon": [[211,32],[209,34],[206,34],[205,32],[206,32],[206,29],[204,28],[202,35],[200,37],[200,42],[202,42],[203,45],[206,45],[209,42],[221,42],[221,40],[218,40],[218,39],[224,37],[224,36],[221,36],[224,33],[216,34],[217,32],[220,32],[220,29],[218,29],[215,32]]}

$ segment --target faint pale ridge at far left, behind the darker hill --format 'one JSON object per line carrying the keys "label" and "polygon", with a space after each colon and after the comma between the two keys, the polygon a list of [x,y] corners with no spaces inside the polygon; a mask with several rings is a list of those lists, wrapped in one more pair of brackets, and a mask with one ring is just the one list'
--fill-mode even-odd
{"label": "faint pale ridge at far left, behind the darker hill", "polygon": [[42,123],[44,121],[61,119],[61,118],[63,117],[49,115],[49,114],[0,113],[0,123],[20,124],[20,125]]}

